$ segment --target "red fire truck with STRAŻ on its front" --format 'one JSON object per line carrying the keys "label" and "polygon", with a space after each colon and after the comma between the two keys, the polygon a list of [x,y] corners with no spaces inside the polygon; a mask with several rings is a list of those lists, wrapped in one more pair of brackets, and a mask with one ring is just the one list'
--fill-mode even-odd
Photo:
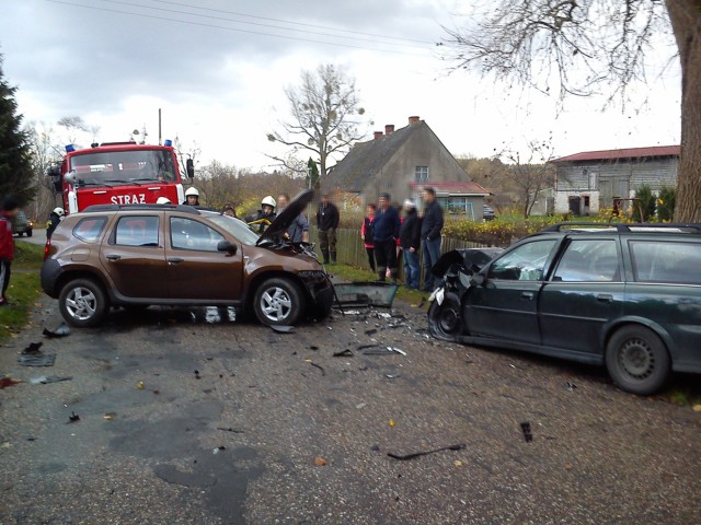
{"label": "red fire truck with STRA\u017b on its front", "polygon": [[[187,160],[186,171],[192,180],[192,159]],[[159,197],[174,205],[185,200],[170,140],[163,145],[103,142],[82,150],[68,144],[61,163],[49,167],[47,175],[62,196],[66,213],[92,205],[150,205]]]}

